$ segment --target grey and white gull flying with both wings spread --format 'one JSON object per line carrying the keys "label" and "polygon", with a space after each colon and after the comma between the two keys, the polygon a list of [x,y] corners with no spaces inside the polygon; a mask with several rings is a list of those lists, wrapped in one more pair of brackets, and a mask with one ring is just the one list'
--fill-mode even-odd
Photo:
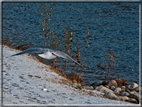
{"label": "grey and white gull flying with both wings spread", "polygon": [[[12,56],[26,54],[26,53],[38,53],[38,56],[45,58],[45,59],[53,59],[53,58],[56,58],[56,56],[58,56],[58,57],[62,57],[64,59],[73,61],[76,64],[82,66],[81,64],[76,62],[74,59],[72,59],[69,55],[65,54],[64,52],[49,49],[49,48],[45,48],[45,49],[43,49],[43,48],[29,48],[29,49],[26,49],[20,53],[14,54]],[[39,53],[42,53],[42,54],[39,54]]]}

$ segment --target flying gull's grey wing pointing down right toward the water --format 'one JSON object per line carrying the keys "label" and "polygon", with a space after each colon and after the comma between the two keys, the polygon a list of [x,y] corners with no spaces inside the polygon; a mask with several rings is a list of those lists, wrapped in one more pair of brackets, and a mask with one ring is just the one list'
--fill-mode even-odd
{"label": "flying gull's grey wing pointing down right toward the water", "polygon": [[58,56],[58,57],[62,57],[62,58],[64,58],[64,59],[73,61],[73,62],[75,62],[76,64],[82,66],[81,64],[79,64],[78,62],[76,62],[74,59],[72,59],[69,55],[65,54],[64,52],[61,52],[61,51],[58,51],[58,50],[52,50],[52,49],[49,49],[49,51],[50,51],[51,53],[53,53],[54,55]]}

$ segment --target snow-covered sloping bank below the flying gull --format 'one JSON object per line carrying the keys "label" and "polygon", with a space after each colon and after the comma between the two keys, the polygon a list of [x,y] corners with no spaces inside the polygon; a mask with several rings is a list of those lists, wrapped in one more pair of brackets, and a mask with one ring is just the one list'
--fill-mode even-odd
{"label": "snow-covered sloping bank below the flying gull", "polygon": [[[9,57],[18,50],[3,47],[3,104],[120,104],[128,102],[90,96],[61,84],[63,77],[31,56]],[[8,57],[8,58],[6,58]]]}

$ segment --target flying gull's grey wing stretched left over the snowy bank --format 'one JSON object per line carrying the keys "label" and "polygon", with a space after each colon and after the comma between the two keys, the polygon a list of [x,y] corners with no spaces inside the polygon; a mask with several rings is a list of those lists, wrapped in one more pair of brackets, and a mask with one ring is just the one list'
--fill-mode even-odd
{"label": "flying gull's grey wing stretched left over the snowy bank", "polygon": [[26,54],[26,53],[42,53],[42,52],[46,52],[48,51],[48,49],[42,49],[42,48],[29,48],[29,49],[26,49],[22,52],[19,52],[17,54],[14,54],[12,56],[16,56],[16,55],[21,55],[21,54]]}

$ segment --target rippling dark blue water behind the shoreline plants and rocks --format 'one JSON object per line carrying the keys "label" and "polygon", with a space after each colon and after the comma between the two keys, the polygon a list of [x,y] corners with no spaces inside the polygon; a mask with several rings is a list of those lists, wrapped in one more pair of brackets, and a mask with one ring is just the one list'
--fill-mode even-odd
{"label": "rippling dark blue water behind the shoreline plants and rocks", "polygon": [[[50,7],[50,3],[47,4]],[[34,47],[41,47],[43,26],[40,5],[41,3],[3,3],[3,38],[9,35],[22,43],[33,43]],[[80,49],[83,50],[87,30],[85,22],[92,37],[84,52],[84,59],[90,57],[87,63],[91,63],[94,70],[82,74],[84,83],[91,84],[104,79],[105,72],[96,65],[104,63],[104,51],[108,65],[111,49],[116,59],[117,74],[120,77],[123,75],[129,82],[138,83],[139,4],[53,3],[48,28],[62,37],[63,25],[68,27],[68,31],[72,31],[75,26],[73,40],[79,38]]]}

